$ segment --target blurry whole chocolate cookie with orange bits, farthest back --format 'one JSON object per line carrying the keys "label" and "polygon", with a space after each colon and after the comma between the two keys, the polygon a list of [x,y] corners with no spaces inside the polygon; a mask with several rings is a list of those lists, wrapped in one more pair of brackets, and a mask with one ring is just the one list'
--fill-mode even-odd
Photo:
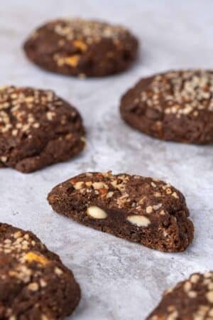
{"label": "blurry whole chocolate cookie with orange bits, farthest back", "polygon": [[45,23],[23,46],[28,58],[41,68],[80,77],[126,70],[137,48],[138,41],[126,28],[80,18]]}

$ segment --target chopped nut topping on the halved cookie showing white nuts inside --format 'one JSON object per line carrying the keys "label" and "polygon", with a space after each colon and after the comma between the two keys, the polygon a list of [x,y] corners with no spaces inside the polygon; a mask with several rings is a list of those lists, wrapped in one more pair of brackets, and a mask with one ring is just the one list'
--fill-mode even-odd
{"label": "chopped nut topping on the halved cookie showing white nuts inside", "polygon": [[[141,193],[136,191],[133,181],[138,181]],[[70,180],[73,192],[87,195],[88,199],[100,197],[107,201],[110,208],[124,208],[130,215],[163,216],[168,214],[164,203],[176,201],[179,193],[169,183],[153,178],[129,176],[128,174],[113,175],[111,171],[102,173],[87,173]],[[133,186],[131,186],[133,183]],[[89,205],[89,200],[88,200]],[[175,217],[174,217],[175,219]]]}

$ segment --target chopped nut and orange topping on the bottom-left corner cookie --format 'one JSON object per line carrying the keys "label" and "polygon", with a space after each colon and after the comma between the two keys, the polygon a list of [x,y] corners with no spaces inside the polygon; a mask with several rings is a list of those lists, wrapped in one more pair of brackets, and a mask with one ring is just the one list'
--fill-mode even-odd
{"label": "chopped nut and orange topping on the bottom-left corner cookie", "polygon": [[[45,252],[43,243],[34,238],[31,233],[14,228],[6,229],[5,235],[4,232],[1,234],[0,261],[5,259],[8,265],[5,268],[1,265],[1,281],[16,283],[23,290],[28,289],[33,294],[36,292],[40,294],[40,290],[44,290],[52,281],[49,277],[51,268],[53,268],[53,279],[54,273],[58,277],[63,277],[63,271],[58,267],[58,262],[54,259],[50,261],[45,257]],[[50,268],[48,272],[45,271],[47,267]],[[16,320],[16,309],[3,311],[6,311],[5,319]],[[45,319],[45,315],[42,319]]]}

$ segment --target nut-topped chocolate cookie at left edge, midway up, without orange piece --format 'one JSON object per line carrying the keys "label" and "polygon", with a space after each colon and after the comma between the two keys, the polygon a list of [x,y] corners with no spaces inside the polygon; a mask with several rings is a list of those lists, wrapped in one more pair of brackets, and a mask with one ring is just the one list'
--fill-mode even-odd
{"label": "nut-topped chocolate cookie at left edge, midway up, without orange piece", "polygon": [[52,91],[0,88],[0,167],[31,172],[84,148],[80,114]]}

